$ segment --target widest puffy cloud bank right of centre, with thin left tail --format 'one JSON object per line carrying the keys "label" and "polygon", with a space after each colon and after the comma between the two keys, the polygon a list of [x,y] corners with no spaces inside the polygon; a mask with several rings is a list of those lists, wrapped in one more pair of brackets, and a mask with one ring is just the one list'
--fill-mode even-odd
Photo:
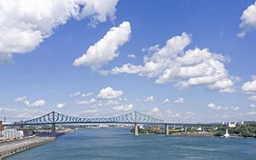
{"label": "widest puffy cloud bank right of centre, with thin left tail", "polygon": [[227,57],[209,49],[195,48],[184,51],[191,43],[191,35],[182,33],[170,38],[165,46],[159,44],[148,50],[143,65],[124,64],[122,67],[104,71],[104,74],[136,74],[138,76],[156,77],[155,83],[174,82],[179,88],[207,84],[211,90],[235,92],[235,80],[228,75],[224,62]]}

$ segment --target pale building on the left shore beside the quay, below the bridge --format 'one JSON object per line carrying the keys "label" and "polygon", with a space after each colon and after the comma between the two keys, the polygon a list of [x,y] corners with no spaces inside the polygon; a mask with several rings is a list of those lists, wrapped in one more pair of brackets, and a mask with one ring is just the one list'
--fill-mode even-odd
{"label": "pale building on the left shore beside the quay, below the bridge", "polygon": [[6,129],[0,131],[0,140],[13,140],[23,137],[24,134],[22,131],[14,130],[14,129]]}

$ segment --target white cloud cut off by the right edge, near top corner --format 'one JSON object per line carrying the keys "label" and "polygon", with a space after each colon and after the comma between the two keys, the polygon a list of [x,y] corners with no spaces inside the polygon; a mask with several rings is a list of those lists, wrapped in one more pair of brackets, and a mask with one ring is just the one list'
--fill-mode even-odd
{"label": "white cloud cut off by the right edge, near top corner", "polygon": [[252,29],[256,29],[256,2],[244,10],[240,19],[242,22],[239,27],[243,30],[237,36],[244,37],[247,32]]}

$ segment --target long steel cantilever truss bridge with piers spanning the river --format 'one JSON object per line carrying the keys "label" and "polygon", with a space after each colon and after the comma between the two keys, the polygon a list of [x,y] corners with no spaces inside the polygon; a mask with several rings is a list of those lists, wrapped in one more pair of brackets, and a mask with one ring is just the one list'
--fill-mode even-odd
{"label": "long steel cantilever truss bridge with piers spanning the river", "polygon": [[[134,124],[134,135],[138,135],[138,124],[163,124],[165,125],[165,133],[169,134],[169,125],[177,125],[174,123],[167,123],[159,118],[146,116],[139,112],[131,112],[122,116],[113,116],[107,118],[80,118],[75,116],[67,116],[61,113],[52,111],[44,116],[39,116],[27,121],[21,121],[16,124],[4,124],[4,126],[21,126],[24,125],[45,125],[51,124],[51,132],[55,133],[56,124]],[[185,129],[186,126],[220,126],[222,124],[182,124]]]}

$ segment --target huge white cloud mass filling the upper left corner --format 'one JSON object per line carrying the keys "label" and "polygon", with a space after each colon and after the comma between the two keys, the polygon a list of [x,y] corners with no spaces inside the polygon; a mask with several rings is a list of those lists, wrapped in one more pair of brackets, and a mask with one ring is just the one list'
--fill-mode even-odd
{"label": "huge white cloud mass filling the upper left corner", "polygon": [[70,18],[90,18],[91,26],[115,18],[118,0],[8,0],[0,1],[0,63],[13,53],[33,51],[54,28]]}

